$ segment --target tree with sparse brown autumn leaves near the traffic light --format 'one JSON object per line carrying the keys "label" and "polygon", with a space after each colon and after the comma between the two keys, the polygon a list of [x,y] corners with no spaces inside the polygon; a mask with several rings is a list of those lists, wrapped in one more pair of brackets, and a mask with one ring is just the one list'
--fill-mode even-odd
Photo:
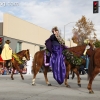
{"label": "tree with sparse brown autumn leaves near the traffic light", "polygon": [[77,43],[77,45],[82,45],[85,39],[89,39],[93,42],[97,39],[95,31],[92,21],[86,19],[85,16],[82,16],[73,28],[72,40],[74,43]]}

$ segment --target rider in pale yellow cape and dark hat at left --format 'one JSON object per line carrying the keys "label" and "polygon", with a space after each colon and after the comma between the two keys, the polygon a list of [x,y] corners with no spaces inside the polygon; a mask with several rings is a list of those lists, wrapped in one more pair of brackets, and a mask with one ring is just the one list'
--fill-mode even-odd
{"label": "rider in pale yellow cape and dark hat at left", "polygon": [[6,61],[6,67],[9,68],[9,63],[12,59],[12,49],[10,48],[9,44],[11,43],[10,40],[6,40],[5,44],[2,49],[1,57],[3,60]]}

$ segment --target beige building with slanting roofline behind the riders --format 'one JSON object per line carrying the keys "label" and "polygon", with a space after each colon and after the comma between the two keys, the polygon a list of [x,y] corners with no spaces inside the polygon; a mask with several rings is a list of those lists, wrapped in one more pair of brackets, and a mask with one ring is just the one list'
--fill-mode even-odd
{"label": "beige building with slanting roofline behind the riders", "polygon": [[[3,44],[9,39],[13,52],[29,49],[34,56],[35,52],[45,48],[45,40],[51,34],[47,29],[8,13],[3,15],[3,22],[0,23],[0,37],[3,38]],[[65,41],[65,43],[68,47],[76,46],[72,41]]]}

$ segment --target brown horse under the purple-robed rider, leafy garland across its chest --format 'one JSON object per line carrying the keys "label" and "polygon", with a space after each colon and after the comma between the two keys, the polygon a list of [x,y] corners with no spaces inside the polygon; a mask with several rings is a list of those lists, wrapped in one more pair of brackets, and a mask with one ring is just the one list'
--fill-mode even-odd
{"label": "brown horse under the purple-robed rider, leafy garland across its chest", "polygon": [[[70,51],[72,51],[73,53],[75,53],[75,55],[79,56],[79,51],[74,51],[74,48],[68,48]],[[85,48],[84,48],[85,49]],[[33,61],[33,80],[32,80],[32,85],[35,84],[35,79],[36,79],[36,75],[37,73],[39,72],[40,68],[42,66],[44,66],[44,77],[45,77],[45,81],[46,81],[46,84],[48,86],[51,86],[50,82],[48,81],[48,78],[47,78],[47,71],[49,69],[49,66],[45,66],[44,65],[44,52],[45,50],[43,51],[38,51],[35,53],[34,55],[34,61]],[[83,52],[83,51],[82,51]],[[82,55],[82,54],[81,54]],[[65,77],[65,85],[66,87],[70,87],[70,85],[68,85],[67,83],[67,78],[68,78],[68,75],[69,75],[69,71],[72,69],[74,71],[74,73],[77,75],[77,83],[78,83],[78,86],[81,87],[81,83],[80,83],[80,76],[79,76],[79,71],[77,69],[76,66],[71,66],[71,64],[65,60],[65,65],[66,65],[66,77]]]}

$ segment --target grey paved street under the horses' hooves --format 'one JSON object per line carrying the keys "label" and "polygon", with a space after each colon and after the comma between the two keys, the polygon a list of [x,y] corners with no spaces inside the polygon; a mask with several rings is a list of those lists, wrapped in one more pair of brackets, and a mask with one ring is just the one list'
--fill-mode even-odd
{"label": "grey paved street under the horses' hooves", "polygon": [[87,90],[87,75],[81,75],[81,88],[77,85],[76,76],[73,80],[69,76],[71,88],[67,88],[64,84],[59,85],[51,72],[48,79],[52,86],[46,85],[43,73],[38,73],[35,86],[31,85],[32,75],[23,75],[25,80],[19,74],[14,75],[14,80],[10,75],[0,75],[0,100],[100,100],[99,75],[93,81],[94,94]]}

